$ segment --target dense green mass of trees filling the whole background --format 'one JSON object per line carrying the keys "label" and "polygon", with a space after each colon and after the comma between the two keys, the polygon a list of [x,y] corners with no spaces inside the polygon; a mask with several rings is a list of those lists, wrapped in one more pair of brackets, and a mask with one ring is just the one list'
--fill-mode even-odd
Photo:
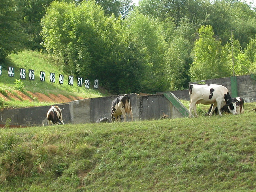
{"label": "dense green mass of trees filling the whole background", "polygon": [[0,26],[0,64],[24,47],[47,50],[115,94],[256,72],[256,12],[239,0],[11,0]]}

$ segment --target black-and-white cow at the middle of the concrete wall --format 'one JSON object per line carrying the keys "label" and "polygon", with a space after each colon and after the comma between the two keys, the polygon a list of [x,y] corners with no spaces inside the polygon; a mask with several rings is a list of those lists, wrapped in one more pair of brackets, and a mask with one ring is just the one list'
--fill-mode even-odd
{"label": "black-and-white cow at the middle of the concrete wall", "polygon": [[[111,104],[111,120],[112,122],[120,122],[121,115],[126,121],[126,114],[132,119],[132,107],[130,97],[127,94],[115,98]],[[133,119],[132,119],[133,120]]]}

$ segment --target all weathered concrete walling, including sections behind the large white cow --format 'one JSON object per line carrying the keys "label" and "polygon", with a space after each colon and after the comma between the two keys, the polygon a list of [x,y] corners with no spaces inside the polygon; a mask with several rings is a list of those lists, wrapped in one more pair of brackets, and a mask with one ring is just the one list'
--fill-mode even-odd
{"label": "all weathered concrete walling, including sections behind the large white cow", "polygon": [[[209,79],[201,81],[201,83],[223,85],[232,94],[230,77]],[[177,98],[189,101],[188,90],[171,92]],[[256,102],[256,81],[250,75],[237,76],[237,92],[239,97],[245,99],[245,102]],[[181,114],[161,93],[148,96],[139,96],[138,94],[128,95],[131,99],[134,120],[158,119],[163,113],[169,115],[170,118],[181,117]],[[65,124],[96,122],[96,120],[102,117],[110,119],[111,102],[117,96],[78,100],[58,104],[58,106],[62,109]],[[3,110],[0,111],[0,123],[5,123],[6,119],[11,119],[10,124],[13,125],[47,125],[46,113],[50,108],[51,106]]]}

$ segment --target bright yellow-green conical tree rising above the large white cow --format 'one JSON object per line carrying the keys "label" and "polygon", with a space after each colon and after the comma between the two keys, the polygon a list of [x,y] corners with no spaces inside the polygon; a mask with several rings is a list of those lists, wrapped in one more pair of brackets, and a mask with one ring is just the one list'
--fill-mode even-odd
{"label": "bright yellow-green conical tree rising above the large white cow", "polygon": [[211,26],[201,26],[200,38],[194,46],[194,62],[190,68],[192,81],[226,77],[230,75],[228,52],[215,40]]}

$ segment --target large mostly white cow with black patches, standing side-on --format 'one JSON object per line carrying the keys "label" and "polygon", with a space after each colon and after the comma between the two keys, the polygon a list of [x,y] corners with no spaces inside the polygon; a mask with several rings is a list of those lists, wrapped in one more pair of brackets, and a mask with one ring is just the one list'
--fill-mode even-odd
{"label": "large mostly white cow with black patches, standing side-on", "polygon": [[196,104],[209,105],[213,104],[209,116],[213,114],[213,111],[218,107],[218,114],[221,115],[220,109],[224,105],[228,106],[230,113],[237,114],[236,104],[232,103],[232,98],[228,93],[228,89],[222,85],[210,84],[210,85],[196,85],[191,84],[189,86],[189,117],[192,115],[192,109],[196,117]]}

